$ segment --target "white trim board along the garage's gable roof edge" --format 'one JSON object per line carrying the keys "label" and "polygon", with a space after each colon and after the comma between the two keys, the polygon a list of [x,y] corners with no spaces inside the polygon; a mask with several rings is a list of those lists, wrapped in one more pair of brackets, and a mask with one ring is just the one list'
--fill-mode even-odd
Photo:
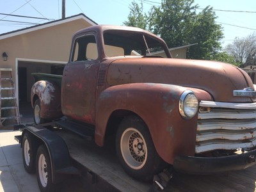
{"label": "white trim board along the garage's gable roof edge", "polygon": [[66,22],[71,22],[73,20],[78,20],[78,19],[84,19],[86,22],[88,22],[89,24],[92,24],[92,26],[95,26],[95,22],[93,22],[92,20],[90,19],[87,19],[86,17],[84,17],[84,15],[77,15],[76,17],[70,17],[68,19],[63,19],[63,20],[59,20],[59,21],[56,21],[56,22],[50,22],[49,24],[40,24],[39,26],[35,26],[35,27],[31,27],[31,28],[28,28],[28,29],[20,29],[20,31],[17,31],[17,32],[10,32],[6,35],[3,35],[3,36],[0,36],[0,40],[4,39],[4,38],[10,38],[12,36],[17,36],[17,35],[22,35],[24,33],[29,33],[31,31],[37,31],[37,30],[40,30],[40,29],[44,29],[44,28],[49,28],[51,26],[57,26],[59,24],[63,24],[63,23],[66,23]]}

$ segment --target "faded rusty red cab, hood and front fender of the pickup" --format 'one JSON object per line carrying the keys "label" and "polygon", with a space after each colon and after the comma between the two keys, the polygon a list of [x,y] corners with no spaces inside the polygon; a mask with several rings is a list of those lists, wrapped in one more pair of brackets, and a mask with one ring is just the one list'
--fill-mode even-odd
{"label": "faded rusty red cab, hood and front fender of the pickup", "polygon": [[[118,30],[118,34],[132,31],[159,40],[168,58],[108,58],[103,37],[108,30]],[[96,38],[99,58],[73,61],[77,38],[88,34]],[[180,95],[192,90],[199,101],[253,102],[255,98],[232,95],[233,90],[249,86],[253,88],[250,77],[232,65],[172,59],[163,40],[142,29],[93,26],[74,35],[61,96],[54,95],[54,100],[61,100],[63,115],[95,125],[95,142],[100,146],[104,145],[111,115],[122,118],[124,111],[136,113],[147,124],[159,156],[172,164],[178,154],[195,155],[197,115],[189,120],[180,116]],[[35,95],[40,93],[31,97]],[[54,108],[52,102],[47,108]]]}

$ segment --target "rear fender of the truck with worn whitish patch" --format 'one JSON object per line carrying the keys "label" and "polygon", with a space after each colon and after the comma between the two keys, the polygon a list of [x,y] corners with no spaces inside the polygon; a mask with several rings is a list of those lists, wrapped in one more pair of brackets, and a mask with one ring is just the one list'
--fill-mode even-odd
{"label": "rear fender of the truck with worn whitish patch", "polygon": [[41,118],[60,118],[62,116],[60,94],[60,87],[56,83],[37,81],[31,88],[31,105],[34,108],[35,100],[38,98]]}

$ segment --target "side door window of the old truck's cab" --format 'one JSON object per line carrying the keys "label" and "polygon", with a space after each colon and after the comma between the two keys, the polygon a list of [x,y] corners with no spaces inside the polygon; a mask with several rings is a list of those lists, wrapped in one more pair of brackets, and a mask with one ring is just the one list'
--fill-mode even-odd
{"label": "side door window of the old truck's cab", "polygon": [[97,60],[99,54],[94,35],[77,38],[72,61]]}

